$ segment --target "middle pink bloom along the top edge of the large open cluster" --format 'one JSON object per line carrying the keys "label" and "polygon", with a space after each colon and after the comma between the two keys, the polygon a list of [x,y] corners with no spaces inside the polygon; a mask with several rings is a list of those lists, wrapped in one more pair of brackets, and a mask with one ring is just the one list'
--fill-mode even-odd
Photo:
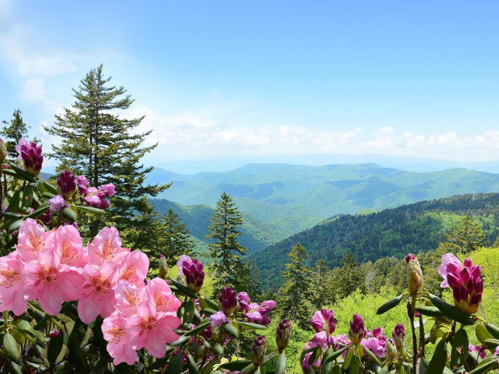
{"label": "middle pink bloom along the top edge of the large open cluster", "polygon": [[88,263],[80,233],[72,225],[59,226],[47,238],[47,246],[59,256],[61,264],[83,268]]}

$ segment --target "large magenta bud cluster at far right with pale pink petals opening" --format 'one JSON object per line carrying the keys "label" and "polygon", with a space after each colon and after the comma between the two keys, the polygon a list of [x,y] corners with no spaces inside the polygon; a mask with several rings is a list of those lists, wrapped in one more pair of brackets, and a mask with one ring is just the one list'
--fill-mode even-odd
{"label": "large magenta bud cluster at far right with pale pink petals opening", "polygon": [[456,307],[468,314],[476,313],[484,291],[484,281],[480,279],[480,265],[473,265],[469,258],[461,264],[452,253],[446,253],[442,256],[438,273],[444,278],[440,286],[452,288]]}

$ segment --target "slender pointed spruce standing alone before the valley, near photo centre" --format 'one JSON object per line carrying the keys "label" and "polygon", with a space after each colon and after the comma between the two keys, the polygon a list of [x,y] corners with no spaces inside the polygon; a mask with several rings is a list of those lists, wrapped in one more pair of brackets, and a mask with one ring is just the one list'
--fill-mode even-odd
{"label": "slender pointed spruce standing alone before the valley, near photo centre", "polygon": [[233,202],[231,196],[222,193],[217,201],[215,213],[212,213],[212,223],[208,227],[207,239],[215,239],[209,244],[210,256],[213,260],[210,271],[214,278],[213,295],[217,296],[225,286],[231,286],[234,290],[242,291],[246,288],[245,271],[243,269],[242,256],[246,248],[238,243],[239,226],[243,224],[241,213]]}

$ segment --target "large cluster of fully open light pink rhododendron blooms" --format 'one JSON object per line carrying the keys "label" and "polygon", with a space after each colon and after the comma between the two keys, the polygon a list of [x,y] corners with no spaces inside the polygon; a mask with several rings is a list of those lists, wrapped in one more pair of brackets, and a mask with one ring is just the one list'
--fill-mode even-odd
{"label": "large cluster of fully open light pink rhododendron blooms", "polygon": [[81,321],[104,318],[102,332],[115,364],[133,364],[142,348],[163,357],[166,343],[178,339],[173,329],[181,322],[181,302],[161,278],[145,285],[147,256],[123,248],[115,227],[104,227],[84,247],[72,225],[45,232],[27,218],[17,241],[13,252],[0,257],[0,311],[21,315],[36,299],[55,316],[63,302],[78,300]]}

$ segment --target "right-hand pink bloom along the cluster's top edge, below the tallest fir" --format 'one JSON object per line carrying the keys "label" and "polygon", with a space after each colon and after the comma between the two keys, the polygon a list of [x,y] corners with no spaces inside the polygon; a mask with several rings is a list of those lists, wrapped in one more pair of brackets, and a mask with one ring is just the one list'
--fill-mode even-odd
{"label": "right-hand pink bloom along the cluster's top edge, below the tallest fir", "polygon": [[88,243],[90,263],[100,265],[104,262],[118,262],[130,252],[129,248],[121,247],[121,239],[116,227],[104,227]]}

